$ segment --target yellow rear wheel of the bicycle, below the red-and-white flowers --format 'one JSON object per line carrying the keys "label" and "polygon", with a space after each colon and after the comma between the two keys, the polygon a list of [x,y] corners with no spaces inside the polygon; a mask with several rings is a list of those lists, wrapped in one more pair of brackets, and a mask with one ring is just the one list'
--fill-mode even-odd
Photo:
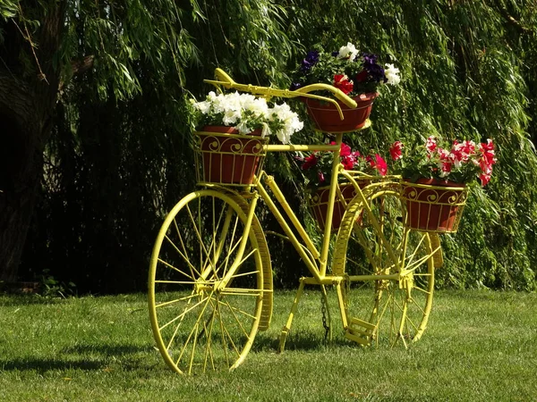
{"label": "yellow rear wheel of the bicycle, below the red-and-white flowers", "polygon": [[[427,233],[406,229],[396,184],[365,189],[371,212],[355,197],[337,237],[333,273],[345,337],[362,345],[405,345],[422,337],[434,290]],[[377,223],[377,224],[376,224]]]}

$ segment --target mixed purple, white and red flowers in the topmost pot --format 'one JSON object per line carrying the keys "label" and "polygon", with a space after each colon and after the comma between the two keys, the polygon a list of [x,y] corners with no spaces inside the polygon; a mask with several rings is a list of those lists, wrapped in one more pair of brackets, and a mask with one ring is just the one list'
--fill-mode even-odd
{"label": "mixed purple, white and red flowers in the topmost pot", "polygon": [[360,53],[350,42],[335,52],[316,45],[294,71],[291,89],[324,83],[341,89],[345,95],[358,96],[375,92],[382,84],[398,84],[399,69],[388,63],[382,67],[378,59],[377,54]]}

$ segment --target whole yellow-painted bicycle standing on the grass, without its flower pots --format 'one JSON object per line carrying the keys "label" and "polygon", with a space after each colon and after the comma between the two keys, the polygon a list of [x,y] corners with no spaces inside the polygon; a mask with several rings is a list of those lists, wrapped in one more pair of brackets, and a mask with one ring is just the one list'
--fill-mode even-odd
{"label": "whole yellow-painted bicycle standing on the grass, without its flower pots", "polygon": [[[355,106],[352,99],[328,85],[291,92],[238,84],[224,71],[216,72],[217,80],[207,82],[217,87],[335,103],[311,94],[329,90],[346,105]],[[199,138],[208,133],[195,134],[199,148]],[[268,329],[272,268],[258,219],[258,214],[267,213],[266,208],[258,207],[260,199],[311,272],[300,278],[281,331],[280,351],[285,348],[305,285],[320,286],[327,306],[326,288],[336,289],[346,339],[364,346],[397,342],[406,346],[420,339],[430,315],[435,265],[441,264],[438,234],[405,225],[400,177],[372,177],[343,169],[339,163],[343,136],[335,133],[333,145],[260,146],[260,155],[333,152],[332,177],[337,180],[328,189],[320,247],[286,202],[276,180],[262,170],[262,163],[247,186],[208,181],[199,175],[200,189],[183,197],[169,212],[150,260],[149,315],[158,349],[175,372],[234,369],[243,363],[257,332]],[[225,153],[222,149],[214,152]],[[345,200],[343,182],[352,185],[354,197]],[[338,230],[332,230],[337,202],[344,203],[345,214]]]}

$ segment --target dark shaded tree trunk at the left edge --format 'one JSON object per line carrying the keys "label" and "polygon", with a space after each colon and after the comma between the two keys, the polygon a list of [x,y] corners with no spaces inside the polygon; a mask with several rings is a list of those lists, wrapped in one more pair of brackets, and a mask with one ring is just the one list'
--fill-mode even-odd
{"label": "dark shaded tree trunk at the left edge", "polygon": [[[64,2],[41,19],[35,36],[23,38],[15,21],[0,46],[0,281],[16,281],[43,170],[43,150],[52,132],[59,67],[53,66],[64,27]],[[30,7],[30,5],[28,5]],[[21,23],[21,21],[19,21]],[[34,46],[37,44],[38,46]],[[21,65],[33,55],[33,71]],[[31,59],[31,56],[30,56]]]}

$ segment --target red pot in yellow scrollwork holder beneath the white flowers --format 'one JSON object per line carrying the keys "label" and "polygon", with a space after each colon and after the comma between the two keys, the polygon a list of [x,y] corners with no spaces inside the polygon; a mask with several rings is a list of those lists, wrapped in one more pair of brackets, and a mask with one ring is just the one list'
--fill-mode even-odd
{"label": "red pot in yellow scrollwork holder beneath the white flowers", "polygon": [[196,173],[200,183],[251,185],[266,155],[261,131],[240,135],[233,127],[206,126],[194,132]]}

